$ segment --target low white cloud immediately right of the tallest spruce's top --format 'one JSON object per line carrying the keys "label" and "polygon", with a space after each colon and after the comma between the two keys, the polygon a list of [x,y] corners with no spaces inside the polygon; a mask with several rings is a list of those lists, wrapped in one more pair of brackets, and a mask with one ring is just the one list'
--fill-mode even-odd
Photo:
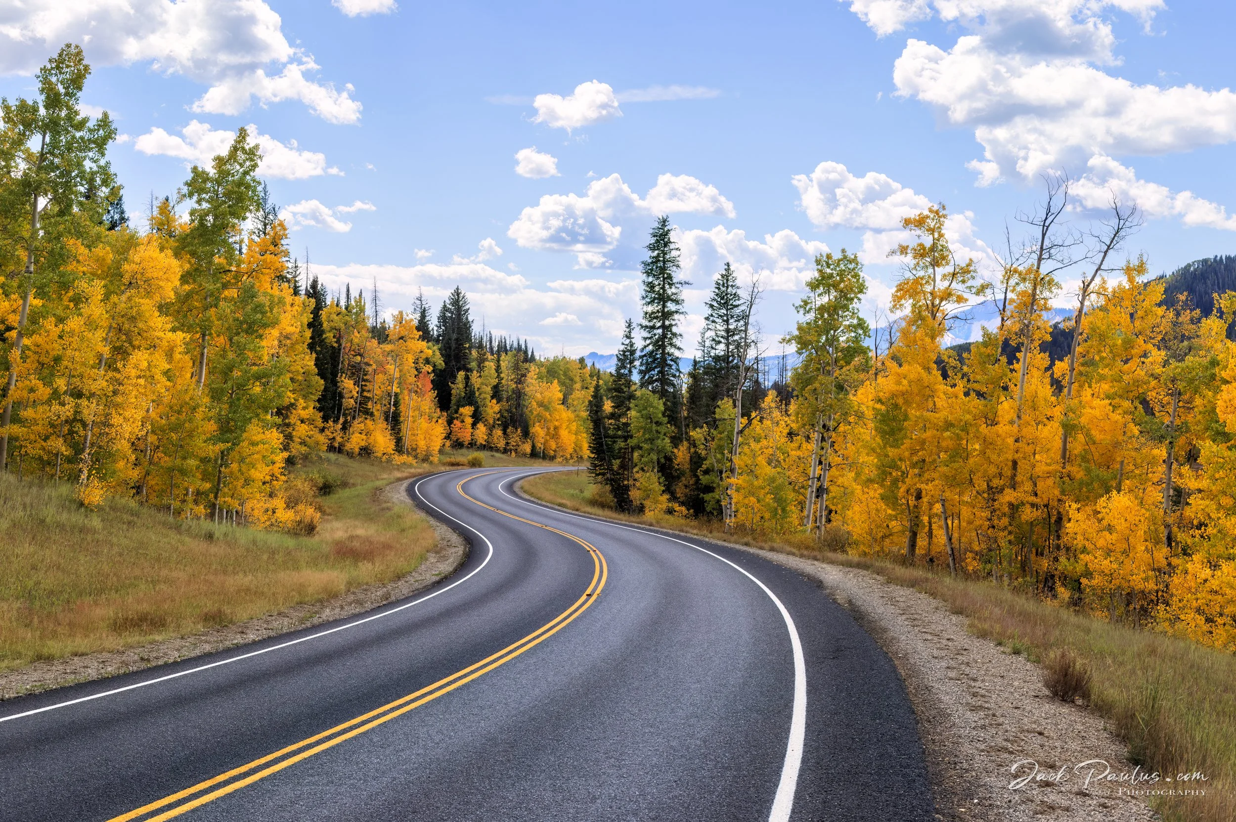
{"label": "low white cloud immediately right of the tallest spruce's top", "polygon": [[705,287],[728,262],[744,281],[759,276],[764,288],[797,290],[815,271],[816,255],[828,251],[826,244],[803,240],[789,229],[764,235],[763,242],[719,225],[708,231],[679,230],[675,240],[682,251],[684,276]]}

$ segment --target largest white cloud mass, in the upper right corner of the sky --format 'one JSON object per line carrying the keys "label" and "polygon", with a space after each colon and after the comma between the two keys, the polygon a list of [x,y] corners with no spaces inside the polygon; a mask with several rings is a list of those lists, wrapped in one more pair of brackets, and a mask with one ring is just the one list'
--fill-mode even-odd
{"label": "largest white cloud mass, in the upper right corner of the sky", "polygon": [[983,157],[967,167],[978,174],[978,185],[1085,167],[1079,190],[1091,190],[1094,198],[1099,189],[1110,197],[1114,188],[1149,204],[1147,215],[1229,227],[1221,206],[1137,180],[1119,162],[1236,141],[1231,89],[1133,83],[1111,72],[1121,63],[1112,16],[1133,15],[1148,31],[1164,7],[1163,0],[850,4],[880,36],[932,16],[964,31],[947,49],[910,38],[892,79],[900,96],[918,99],[944,122],[974,131]]}

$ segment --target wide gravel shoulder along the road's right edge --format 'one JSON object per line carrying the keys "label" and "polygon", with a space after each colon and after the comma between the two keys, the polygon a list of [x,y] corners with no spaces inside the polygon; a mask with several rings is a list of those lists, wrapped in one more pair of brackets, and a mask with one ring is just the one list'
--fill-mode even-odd
{"label": "wide gravel shoulder along the road's right edge", "polygon": [[[1043,671],[1023,656],[967,632],[967,619],[926,593],[876,574],[742,548],[818,582],[892,658],[918,716],[941,820],[991,822],[1142,822],[1159,818],[1120,782],[1085,782],[1101,760],[1133,771],[1125,745],[1099,714],[1062,702]],[[1016,774],[1012,766],[1026,763]],[[1033,771],[1065,779],[1031,779]],[[1103,764],[1094,768],[1101,774]]]}

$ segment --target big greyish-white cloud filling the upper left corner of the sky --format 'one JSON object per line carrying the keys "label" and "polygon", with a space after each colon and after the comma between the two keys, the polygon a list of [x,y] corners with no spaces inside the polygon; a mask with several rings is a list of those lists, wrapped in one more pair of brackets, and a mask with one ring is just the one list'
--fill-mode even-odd
{"label": "big greyish-white cloud filling the upper left corner of the sky", "polygon": [[263,0],[31,0],[0,25],[0,73],[32,74],[66,42],[83,43],[96,67],[146,63],[208,85],[194,111],[235,115],[256,98],[299,100],[329,122],[361,116],[351,87],[307,77],[319,66]]}

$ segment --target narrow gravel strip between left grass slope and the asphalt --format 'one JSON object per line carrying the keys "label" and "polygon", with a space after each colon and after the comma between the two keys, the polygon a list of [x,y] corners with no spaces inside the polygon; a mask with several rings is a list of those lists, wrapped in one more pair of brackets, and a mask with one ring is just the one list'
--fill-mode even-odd
{"label": "narrow gravel strip between left grass slope and the asphalt", "polygon": [[[396,504],[412,506],[407,493],[409,482],[410,480],[404,480],[389,485],[382,489],[382,493]],[[10,700],[15,696],[37,693],[77,682],[106,679],[226,650],[299,628],[351,617],[424,591],[454,574],[467,559],[467,543],[462,536],[431,517],[425,517],[425,519],[433,525],[438,544],[430,549],[412,574],[398,580],[367,585],[332,600],[295,606],[279,613],[211,628],[189,637],[162,639],[115,651],[40,661],[12,671],[4,671],[0,672],[0,700]]]}

